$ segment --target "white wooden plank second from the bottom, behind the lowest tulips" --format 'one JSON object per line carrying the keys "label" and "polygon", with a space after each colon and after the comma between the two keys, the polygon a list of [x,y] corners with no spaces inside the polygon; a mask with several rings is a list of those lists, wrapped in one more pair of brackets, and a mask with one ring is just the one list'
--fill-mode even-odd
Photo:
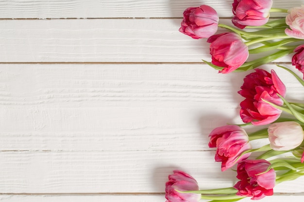
{"label": "white wooden plank second from the bottom, behind the lowest tulips", "polygon": [[[235,171],[220,171],[211,151],[0,152],[1,193],[161,193],[172,170],[183,170],[202,189],[233,186]],[[206,184],[206,182],[208,182]],[[275,192],[303,192],[304,181]]]}

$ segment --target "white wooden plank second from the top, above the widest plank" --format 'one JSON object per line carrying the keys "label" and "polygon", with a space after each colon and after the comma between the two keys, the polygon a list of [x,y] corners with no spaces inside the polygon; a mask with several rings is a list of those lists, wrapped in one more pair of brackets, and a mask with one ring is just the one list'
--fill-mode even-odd
{"label": "white wooden plank second from the top, above the widest plank", "polygon": [[[211,61],[210,44],[206,39],[195,40],[180,33],[180,22],[181,19],[1,20],[0,62]],[[226,19],[222,23],[231,22]],[[253,54],[250,60],[261,56]],[[276,62],[291,59],[284,57]]]}

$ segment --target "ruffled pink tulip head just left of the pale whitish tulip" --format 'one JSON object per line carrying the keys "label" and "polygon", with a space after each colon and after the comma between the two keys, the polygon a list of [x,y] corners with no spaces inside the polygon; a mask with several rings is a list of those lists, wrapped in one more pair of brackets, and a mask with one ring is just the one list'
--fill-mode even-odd
{"label": "ruffled pink tulip head just left of the pale whitish tulip", "polygon": [[211,131],[209,137],[209,147],[217,147],[215,161],[221,162],[221,171],[231,168],[251,154],[240,157],[242,152],[251,149],[251,145],[246,131],[237,125],[217,127]]}

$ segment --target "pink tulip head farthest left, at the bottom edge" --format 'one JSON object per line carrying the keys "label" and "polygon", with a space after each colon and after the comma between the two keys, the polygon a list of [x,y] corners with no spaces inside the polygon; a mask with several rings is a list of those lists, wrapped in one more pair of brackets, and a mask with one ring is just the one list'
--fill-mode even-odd
{"label": "pink tulip head farthest left, at the bottom edge", "polygon": [[201,199],[201,194],[178,192],[199,190],[197,181],[186,172],[173,172],[174,174],[169,175],[169,181],[166,183],[166,202],[198,202]]}

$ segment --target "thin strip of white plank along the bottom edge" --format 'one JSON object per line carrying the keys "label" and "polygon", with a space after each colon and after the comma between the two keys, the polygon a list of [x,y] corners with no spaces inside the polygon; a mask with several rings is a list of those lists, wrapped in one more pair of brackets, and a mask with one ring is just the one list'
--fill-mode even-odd
{"label": "thin strip of white plank along the bottom edge", "polygon": [[[3,202],[164,202],[165,196],[161,195],[4,195],[0,196]],[[303,195],[273,195],[259,200],[259,202],[286,202],[302,201]],[[205,202],[205,200],[201,200]],[[240,202],[252,202],[250,198]]]}

